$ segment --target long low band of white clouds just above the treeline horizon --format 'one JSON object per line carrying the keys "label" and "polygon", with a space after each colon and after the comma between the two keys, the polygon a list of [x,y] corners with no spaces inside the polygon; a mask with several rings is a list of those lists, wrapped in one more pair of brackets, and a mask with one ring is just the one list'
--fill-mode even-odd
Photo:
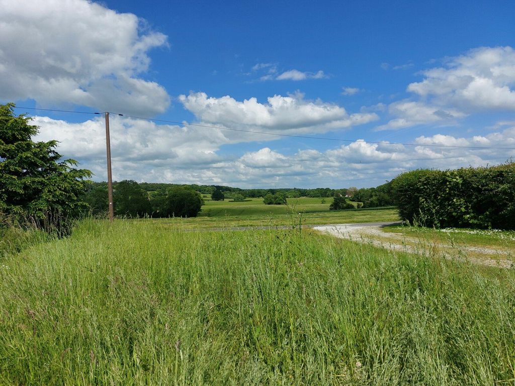
{"label": "long low band of white clouds just above the treeline horizon", "polygon": [[[72,124],[36,117],[38,140],[60,141],[58,151],[106,179],[105,127],[102,117]],[[368,143],[363,139],[334,148],[283,153],[271,146],[238,152],[234,144],[252,139],[232,132],[192,126],[156,125],[113,116],[111,147],[115,180],[218,184],[240,187],[376,186],[402,171],[494,165],[513,154],[509,149],[428,147],[426,145],[515,148],[515,127],[471,137],[420,136],[418,146]],[[221,147],[231,146],[229,152]]]}

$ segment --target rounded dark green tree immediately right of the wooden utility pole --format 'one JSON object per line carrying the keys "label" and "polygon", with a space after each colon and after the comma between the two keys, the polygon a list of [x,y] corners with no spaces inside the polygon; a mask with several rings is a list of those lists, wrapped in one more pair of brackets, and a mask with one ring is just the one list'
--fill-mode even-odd
{"label": "rounded dark green tree immediately right of the wooden utility pole", "polygon": [[116,216],[143,217],[152,213],[148,195],[136,181],[124,180],[113,187]]}

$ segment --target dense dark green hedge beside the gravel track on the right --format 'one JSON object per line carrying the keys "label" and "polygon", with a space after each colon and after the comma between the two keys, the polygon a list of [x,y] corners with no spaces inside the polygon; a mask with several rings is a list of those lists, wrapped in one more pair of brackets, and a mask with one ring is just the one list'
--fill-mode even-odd
{"label": "dense dark green hedge beside the gravel track on the right", "polygon": [[419,169],[391,181],[401,218],[427,226],[515,229],[515,162]]}

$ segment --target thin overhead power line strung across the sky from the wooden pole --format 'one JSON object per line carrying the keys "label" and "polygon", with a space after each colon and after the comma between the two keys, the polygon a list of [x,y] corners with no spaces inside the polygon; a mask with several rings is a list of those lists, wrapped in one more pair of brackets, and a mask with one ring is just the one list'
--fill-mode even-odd
{"label": "thin overhead power line strung across the sky from the wooden pole", "polygon": [[[29,108],[29,107],[16,107],[16,109],[42,110],[42,111],[54,111],[54,112],[78,113],[78,114],[97,114],[97,115],[100,114],[100,113],[90,113],[90,112],[84,112],[84,111],[36,109],[36,108]],[[163,122],[163,123],[174,124],[174,125],[194,126],[194,127],[202,127],[202,128],[218,129],[218,130],[229,130],[229,131],[251,133],[251,134],[275,135],[275,136],[280,136],[280,137],[318,139],[321,141],[336,141],[336,142],[347,142],[347,143],[363,142],[363,143],[367,143],[367,144],[377,144],[377,145],[402,145],[402,146],[422,146],[422,147],[478,149],[478,150],[481,150],[481,149],[483,149],[483,150],[515,150],[515,147],[411,144],[411,143],[403,143],[403,142],[365,141],[364,139],[344,139],[344,138],[330,138],[330,137],[315,137],[315,136],[310,136],[310,135],[298,135],[298,134],[270,133],[270,132],[266,132],[266,131],[233,129],[233,128],[221,127],[221,126],[191,124],[189,122],[179,122],[179,121],[174,121],[174,120],[152,119],[152,118],[145,118],[145,117],[119,114],[119,113],[113,113],[113,112],[109,112],[109,113],[113,114],[113,115],[128,117],[128,118],[143,119],[143,120],[147,120],[147,121],[151,121],[151,122]]]}

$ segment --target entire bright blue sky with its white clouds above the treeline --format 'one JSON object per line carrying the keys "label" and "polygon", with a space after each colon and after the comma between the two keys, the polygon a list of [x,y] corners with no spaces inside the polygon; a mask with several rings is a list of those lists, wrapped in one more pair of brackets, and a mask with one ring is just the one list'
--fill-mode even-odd
{"label": "entire bright blue sky with its white clouds above the treeline", "polygon": [[[360,140],[113,117],[118,180],[375,186],[515,153],[463,147],[515,148],[513,2],[0,6],[0,102]],[[105,180],[101,117],[31,115],[40,139]]]}

